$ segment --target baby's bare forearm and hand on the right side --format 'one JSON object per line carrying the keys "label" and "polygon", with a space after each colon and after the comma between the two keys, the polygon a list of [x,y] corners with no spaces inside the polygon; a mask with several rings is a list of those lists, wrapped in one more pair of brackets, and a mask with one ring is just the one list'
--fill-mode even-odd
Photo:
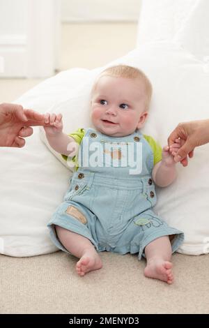
{"label": "baby's bare forearm and hand on the right side", "polygon": [[162,149],[162,161],[155,164],[152,172],[153,181],[157,186],[169,186],[176,179],[176,162],[173,159],[173,149],[176,151],[180,148],[179,142],[176,142],[172,147],[165,146]]}

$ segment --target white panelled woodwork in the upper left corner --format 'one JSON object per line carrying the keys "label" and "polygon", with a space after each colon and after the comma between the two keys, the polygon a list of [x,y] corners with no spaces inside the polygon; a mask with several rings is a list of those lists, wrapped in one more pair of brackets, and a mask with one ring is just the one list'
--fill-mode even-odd
{"label": "white panelled woodwork in the upper left corner", "polygon": [[0,0],[0,77],[54,75],[58,68],[60,3]]}

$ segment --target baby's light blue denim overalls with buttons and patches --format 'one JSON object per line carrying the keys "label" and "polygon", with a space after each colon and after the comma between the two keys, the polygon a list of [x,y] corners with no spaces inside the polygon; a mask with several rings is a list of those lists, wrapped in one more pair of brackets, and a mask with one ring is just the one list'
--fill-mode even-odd
{"label": "baby's light blue denim overalls with buttons and patches", "polygon": [[169,227],[152,210],[153,150],[139,131],[110,137],[88,128],[78,158],[80,167],[47,225],[58,248],[69,253],[54,225],[88,238],[99,252],[139,253],[139,260],[146,245],[158,237],[175,234],[172,251],[178,249],[183,232]]}

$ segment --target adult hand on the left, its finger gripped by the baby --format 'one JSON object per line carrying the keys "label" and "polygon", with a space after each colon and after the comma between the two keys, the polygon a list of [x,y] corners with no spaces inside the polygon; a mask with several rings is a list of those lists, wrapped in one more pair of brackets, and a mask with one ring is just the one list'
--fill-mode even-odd
{"label": "adult hand on the left, its finger gripped by the baby", "polygon": [[24,137],[33,134],[31,126],[43,126],[44,115],[24,110],[21,105],[0,105],[0,147],[23,147]]}

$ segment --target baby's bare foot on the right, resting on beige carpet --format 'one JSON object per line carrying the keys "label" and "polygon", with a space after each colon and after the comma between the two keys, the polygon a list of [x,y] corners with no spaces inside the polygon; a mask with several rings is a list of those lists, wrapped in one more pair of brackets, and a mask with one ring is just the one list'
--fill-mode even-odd
{"label": "baby's bare foot on the right, resting on beige carpet", "polygon": [[144,275],[148,278],[160,279],[167,283],[173,283],[172,263],[164,260],[150,260],[144,269]]}

